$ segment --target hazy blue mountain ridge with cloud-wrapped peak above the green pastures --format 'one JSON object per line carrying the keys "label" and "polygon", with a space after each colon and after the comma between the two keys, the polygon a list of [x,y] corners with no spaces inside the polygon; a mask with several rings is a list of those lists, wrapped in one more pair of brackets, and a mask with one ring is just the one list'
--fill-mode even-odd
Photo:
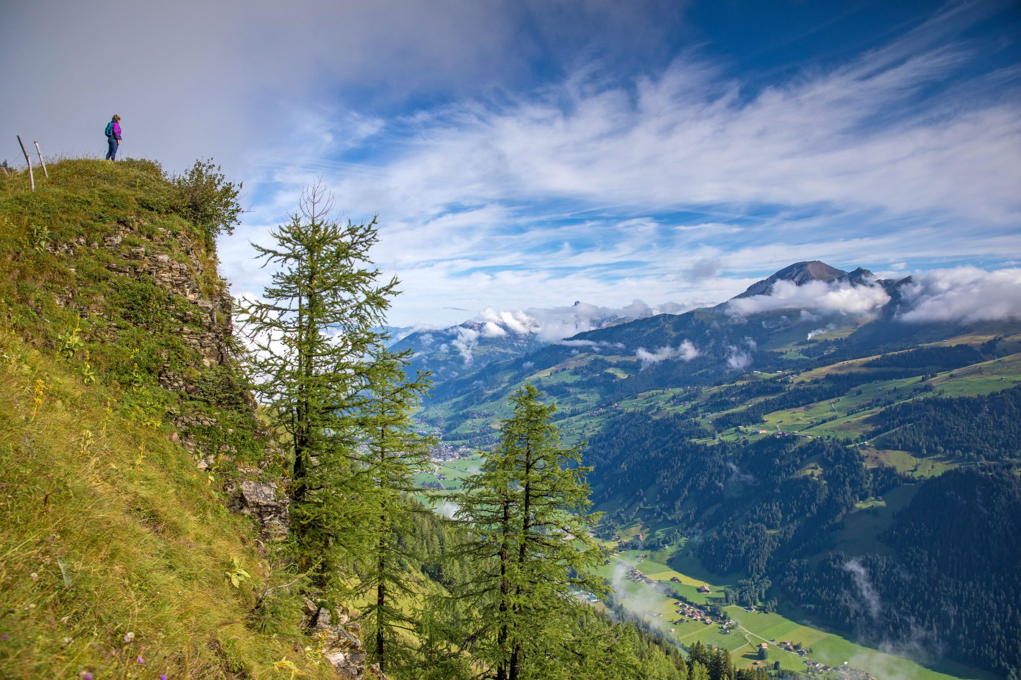
{"label": "hazy blue mountain ridge with cloud-wrapped peak above the green pastures", "polygon": [[[883,323],[901,310],[911,281],[910,276],[880,279],[863,268],[848,272],[820,261],[797,262],[719,305],[679,314],[606,318],[554,344],[510,333],[484,342],[484,324],[468,322],[445,329],[441,336],[435,331],[412,333],[395,347],[423,352],[417,361],[438,374],[440,382],[449,381],[436,390],[437,399],[456,398],[467,385],[474,385],[473,390],[489,385],[499,371],[525,364],[541,370],[583,353],[615,358],[620,370],[642,373],[643,383],[681,376],[711,383],[735,371],[773,366],[781,349],[791,358],[797,356],[797,346],[812,339],[840,336],[847,346],[872,346],[909,335],[927,337],[933,329],[926,324]],[[472,361],[465,361],[465,344],[458,343],[466,335],[479,338],[471,347]]]}

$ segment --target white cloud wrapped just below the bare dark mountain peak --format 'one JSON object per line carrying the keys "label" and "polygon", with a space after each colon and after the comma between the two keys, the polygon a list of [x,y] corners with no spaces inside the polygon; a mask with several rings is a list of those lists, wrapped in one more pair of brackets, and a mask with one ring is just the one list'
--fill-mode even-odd
{"label": "white cloud wrapped just below the bare dark mountain peak", "polygon": [[747,316],[781,309],[801,309],[810,313],[867,316],[889,302],[881,285],[852,285],[808,281],[801,285],[779,280],[770,295],[738,298],[727,304],[727,313]]}

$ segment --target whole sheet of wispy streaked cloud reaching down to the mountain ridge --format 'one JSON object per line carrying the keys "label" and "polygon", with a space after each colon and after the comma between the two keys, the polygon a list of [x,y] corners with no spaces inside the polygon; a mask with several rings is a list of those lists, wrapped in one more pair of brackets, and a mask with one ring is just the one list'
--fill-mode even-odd
{"label": "whole sheet of wispy streaked cloud reaching down to the mountain ridge", "polygon": [[276,175],[382,213],[403,314],[720,300],[796,260],[995,263],[1021,250],[1021,98],[1017,68],[962,76],[974,11],[765,87],[696,52],[632,79],[581,67],[373,118],[370,160],[337,147]]}

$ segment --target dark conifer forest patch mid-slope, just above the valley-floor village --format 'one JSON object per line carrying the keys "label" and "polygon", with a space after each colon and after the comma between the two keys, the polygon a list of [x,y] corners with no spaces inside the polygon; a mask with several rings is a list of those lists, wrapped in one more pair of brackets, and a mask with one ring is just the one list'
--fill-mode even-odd
{"label": "dark conifer forest patch mid-slope, just above the valley-floor village", "polygon": [[[766,575],[794,555],[824,550],[827,531],[856,503],[907,479],[892,468],[867,468],[855,449],[831,439],[691,440],[707,435],[682,416],[628,413],[592,438],[584,462],[595,466],[597,503],[623,495],[638,499],[654,520],[711,525],[699,558],[718,573]],[[821,460],[820,478],[798,474],[810,458]],[[607,520],[635,512],[619,509]]]}

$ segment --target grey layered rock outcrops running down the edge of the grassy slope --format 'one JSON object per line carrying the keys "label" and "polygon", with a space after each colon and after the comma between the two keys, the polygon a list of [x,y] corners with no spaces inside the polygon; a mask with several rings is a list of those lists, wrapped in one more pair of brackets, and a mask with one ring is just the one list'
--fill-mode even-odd
{"label": "grey layered rock outcrops running down the edge of the grassy slope", "polygon": [[[47,250],[54,254],[75,257],[82,249],[95,251],[97,259],[115,274],[135,281],[151,281],[183,303],[174,307],[169,332],[194,352],[184,365],[173,369],[166,365],[159,371],[159,385],[188,397],[201,397],[203,387],[196,376],[209,369],[230,369],[230,344],[234,330],[232,309],[234,301],[227,291],[227,283],[215,271],[215,259],[199,245],[182,234],[172,236],[166,229],[146,229],[148,224],[132,218],[117,225],[113,233],[101,241],[78,238],[71,243],[50,243]],[[143,242],[141,245],[139,242]],[[173,242],[173,243],[172,243]],[[167,248],[167,245],[172,247]],[[77,291],[68,287],[58,292],[57,304],[78,308],[83,317],[90,313],[105,316],[102,309],[84,304]],[[116,342],[116,336],[108,337]],[[231,478],[224,484],[228,493],[228,508],[254,519],[258,524],[257,542],[281,540],[289,531],[289,501],[286,479],[268,476],[266,469],[279,462],[282,452],[272,432],[258,423],[255,404],[242,390],[241,404],[233,405],[247,412],[254,423],[253,434],[263,452],[251,465],[242,462],[237,448],[230,443],[236,434],[234,427],[221,422],[216,415],[183,409],[174,424],[177,431],[172,441],[180,443],[195,458],[196,468],[207,473],[231,468]],[[210,477],[211,478],[211,477]],[[323,651],[324,659],[341,678],[384,677],[378,668],[368,667],[366,652],[358,639],[360,626],[352,621],[347,609],[340,604],[326,607],[306,600],[303,627]],[[368,674],[368,675],[367,675]]]}

